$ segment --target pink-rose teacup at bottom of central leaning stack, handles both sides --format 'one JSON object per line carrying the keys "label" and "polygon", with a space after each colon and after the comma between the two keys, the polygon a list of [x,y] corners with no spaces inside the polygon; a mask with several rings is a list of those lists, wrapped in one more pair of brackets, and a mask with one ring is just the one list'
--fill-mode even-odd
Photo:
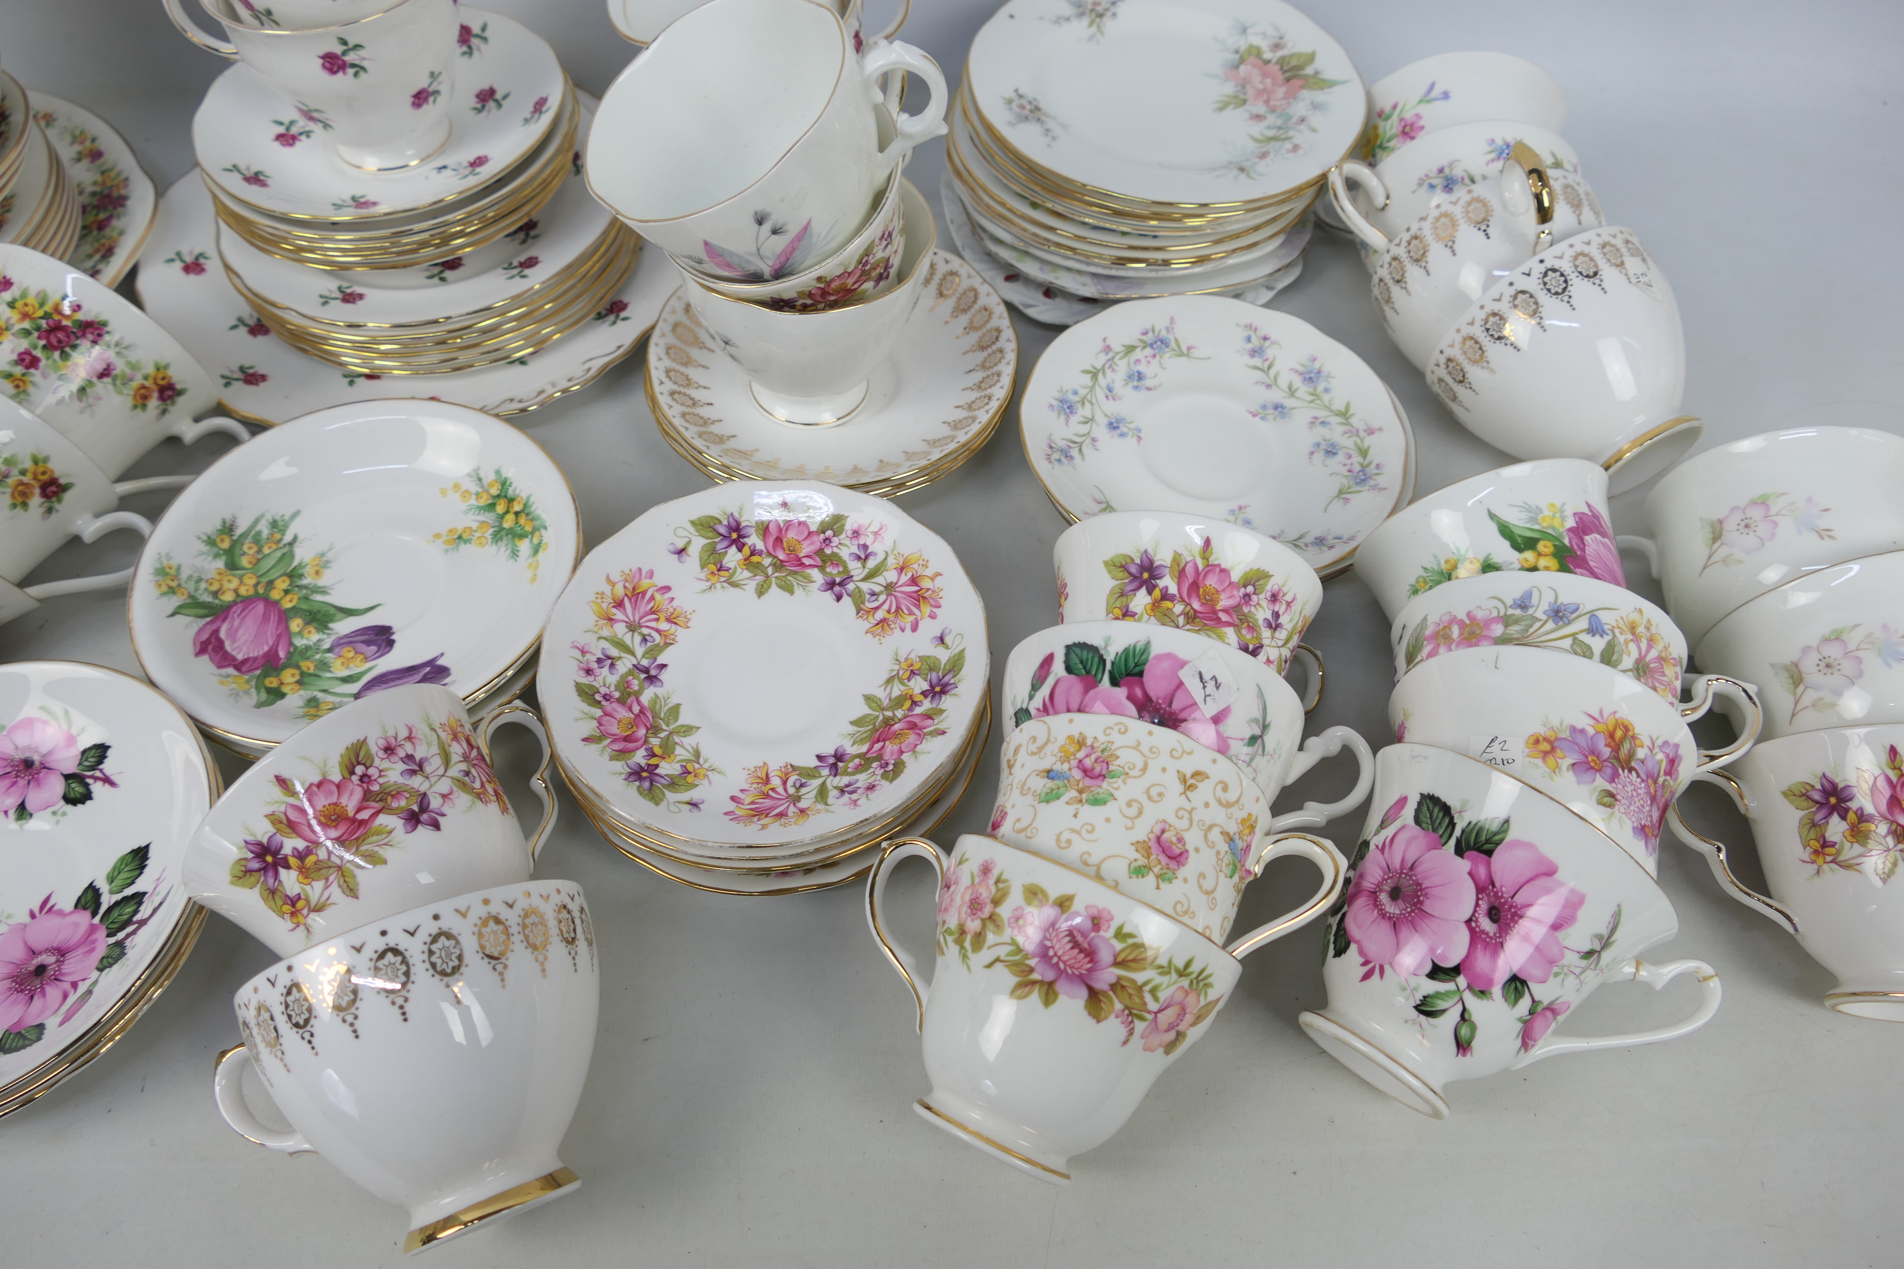
{"label": "pink-rose teacup at bottom of central leaning stack, handles both sides", "polygon": [[[1238,957],[1308,925],[1340,894],[1335,847],[1283,845],[1321,868],[1321,888],[1228,949],[992,837],[965,833],[950,862],[918,837],[887,845],[866,883],[866,923],[918,1003],[933,1086],[920,1117],[1066,1185],[1070,1157],[1121,1128],[1158,1075],[1209,1031],[1243,972]],[[939,873],[929,980],[887,936],[880,909],[893,866],[910,858]]]}

